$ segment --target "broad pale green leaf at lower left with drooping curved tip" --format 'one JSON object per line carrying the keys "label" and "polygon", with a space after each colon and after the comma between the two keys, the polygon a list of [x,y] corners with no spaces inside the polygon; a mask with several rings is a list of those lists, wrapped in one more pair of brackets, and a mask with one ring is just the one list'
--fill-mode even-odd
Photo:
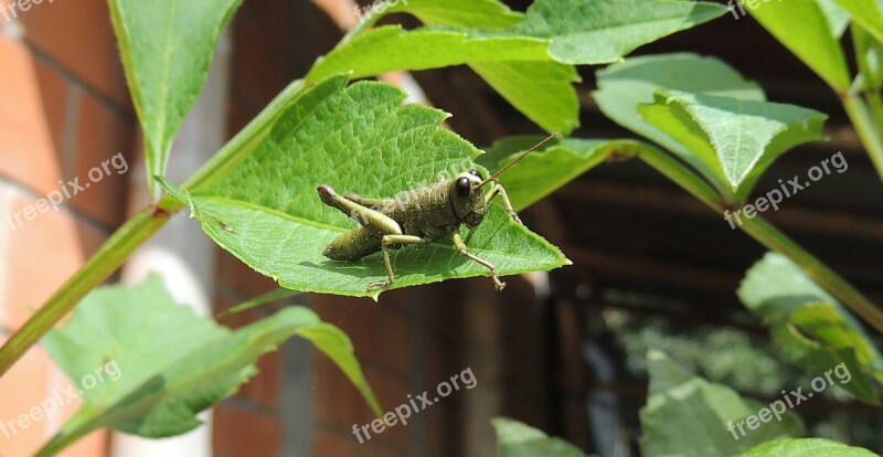
{"label": "broad pale green leaf at lower left with drooping curved tip", "polygon": [[286,308],[230,331],[174,302],[158,276],[132,288],[96,289],[43,341],[72,380],[84,380],[74,389],[83,387],[85,401],[44,453],[100,427],[147,437],[185,433],[200,425],[196,413],[256,373],[263,353],[295,334],[328,354],[381,414],[350,340],[307,308]]}

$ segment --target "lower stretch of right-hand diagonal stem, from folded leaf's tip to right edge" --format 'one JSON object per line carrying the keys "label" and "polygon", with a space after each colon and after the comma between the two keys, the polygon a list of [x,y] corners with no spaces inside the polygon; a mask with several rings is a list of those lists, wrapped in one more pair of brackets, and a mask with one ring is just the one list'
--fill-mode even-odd
{"label": "lower stretch of right-hand diagonal stem, from folded leaf's tip to right edge", "polygon": [[757,240],[764,246],[778,252],[799,265],[820,286],[831,293],[853,312],[861,316],[877,331],[883,332],[883,310],[864,298],[860,291],[845,279],[828,268],[797,243],[760,217],[745,219],[741,225],[743,232]]}

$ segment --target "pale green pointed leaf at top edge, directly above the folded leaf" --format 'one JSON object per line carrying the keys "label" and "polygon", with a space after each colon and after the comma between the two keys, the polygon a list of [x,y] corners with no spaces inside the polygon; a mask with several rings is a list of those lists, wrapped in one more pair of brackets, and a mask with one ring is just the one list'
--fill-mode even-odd
{"label": "pale green pointed leaf at top edge, directly above the folded leaf", "polygon": [[509,33],[551,40],[549,53],[556,62],[604,64],[726,12],[699,1],[536,0]]}

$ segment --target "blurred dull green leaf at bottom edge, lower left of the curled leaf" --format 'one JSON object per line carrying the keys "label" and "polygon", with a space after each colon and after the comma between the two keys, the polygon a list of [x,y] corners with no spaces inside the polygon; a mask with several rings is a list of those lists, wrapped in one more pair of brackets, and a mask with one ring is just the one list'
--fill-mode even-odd
{"label": "blurred dull green leaf at bottom edge, lower left of the curled leaf", "polygon": [[[687,372],[663,352],[651,350],[647,358],[650,392],[640,412],[643,456],[733,456],[758,443],[804,434],[800,418],[790,411],[774,421],[768,405]],[[767,421],[758,419],[760,415]],[[747,425],[749,416],[759,424],[754,429]]]}

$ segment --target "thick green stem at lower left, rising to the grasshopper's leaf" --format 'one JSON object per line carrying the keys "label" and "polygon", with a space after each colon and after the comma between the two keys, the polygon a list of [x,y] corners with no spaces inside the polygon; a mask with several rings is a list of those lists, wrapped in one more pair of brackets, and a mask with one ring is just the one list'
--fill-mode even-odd
{"label": "thick green stem at lower left, rising to the grasshopper's leaf", "polygon": [[110,235],[86,265],[56,290],[0,348],[0,376],[65,317],[86,294],[107,279],[138,246],[159,230],[171,216],[170,209],[173,209],[173,205],[174,203],[163,199],[159,204],[143,209]]}

